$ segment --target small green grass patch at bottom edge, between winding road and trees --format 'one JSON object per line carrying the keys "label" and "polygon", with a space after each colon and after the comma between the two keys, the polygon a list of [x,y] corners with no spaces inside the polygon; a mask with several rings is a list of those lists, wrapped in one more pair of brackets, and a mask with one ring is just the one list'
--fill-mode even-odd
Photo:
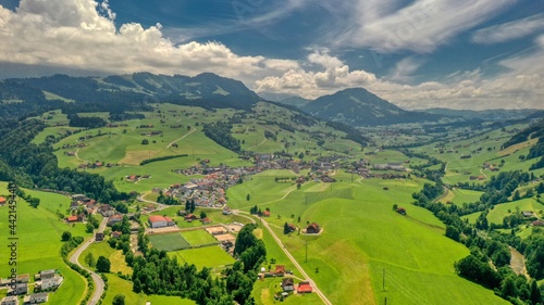
{"label": "small green grass patch at bottom edge, between winding road and trees", "polygon": [[154,304],[169,304],[169,305],[195,305],[191,300],[181,298],[180,296],[165,296],[165,295],[146,295],[143,293],[133,292],[132,282],[121,279],[115,275],[107,275],[108,285],[114,290],[108,290],[102,304],[112,304],[113,297],[116,294],[125,296],[125,304],[131,305],[146,305],[146,302]]}

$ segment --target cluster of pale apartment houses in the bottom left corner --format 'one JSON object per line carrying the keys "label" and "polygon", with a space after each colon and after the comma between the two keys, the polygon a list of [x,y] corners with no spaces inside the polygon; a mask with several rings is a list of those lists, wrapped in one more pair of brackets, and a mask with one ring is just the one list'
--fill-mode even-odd
{"label": "cluster of pale apartment houses in the bottom left corner", "polygon": [[39,304],[45,303],[49,298],[49,294],[45,291],[58,289],[64,278],[54,269],[41,270],[34,276],[34,291],[28,291],[30,276],[28,274],[18,275],[14,279],[1,279],[0,287],[8,287],[8,295],[0,300],[0,305],[18,305],[20,296],[24,295],[23,304]]}

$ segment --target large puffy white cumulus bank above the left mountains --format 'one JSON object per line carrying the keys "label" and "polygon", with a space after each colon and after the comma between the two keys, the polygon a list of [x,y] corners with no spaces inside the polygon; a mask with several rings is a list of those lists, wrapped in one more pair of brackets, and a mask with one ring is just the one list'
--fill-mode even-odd
{"label": "large puffy white cumulus bank above the left mountains", "polygon": [[0,7],[0,62],[108,73],[148,71],[195,75],[214,72],[247,78],[296,62],[242,56],[217,41],[175,45],[157,24],[128,23],[116,30],[108,1],[22,0],[15,12]]}

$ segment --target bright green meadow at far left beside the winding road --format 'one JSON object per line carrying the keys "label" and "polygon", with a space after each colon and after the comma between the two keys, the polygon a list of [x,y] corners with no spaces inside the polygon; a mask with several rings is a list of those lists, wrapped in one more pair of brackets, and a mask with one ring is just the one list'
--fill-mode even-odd
{"label": "bright green meadow at far left beside the winding road", "polygon": [[[2,195],[8,194],[7,183],[0,182]],[[32,196],[41,200],[38,208],[30,207],[26,202],[17,201],[17,274],[37,274],[44,269],[58,269],[64,277],[63,284],[55,293],[50,294],[50,304],[72,305],[78,303],[86,289],[84,279],[70,269],[60,256],[62,245],[61,236],[63,231],[72,232],[72,236],[89,237],[85,233],[85,226],[76,224],[66,225],[60,220],[54,211],[64,212],[70,205],[70,199],[63,195],[46,192],[25,190]],[[8,206],[0,207],[0,239],[5,245],[0,246],[0,257],[5,258],[0,264],[2,278],[9,276],[11,266],[8,265]]]}

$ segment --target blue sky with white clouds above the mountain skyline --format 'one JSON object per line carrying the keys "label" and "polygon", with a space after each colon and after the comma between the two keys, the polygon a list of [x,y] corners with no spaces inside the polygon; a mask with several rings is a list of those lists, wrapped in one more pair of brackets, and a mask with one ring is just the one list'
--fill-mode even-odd
{"label": "blue sky with white clouds above the mountain skyline", "polygon": [[0,0],[0,78],[212,72],[270,98],[544,109],[543,0]]}

